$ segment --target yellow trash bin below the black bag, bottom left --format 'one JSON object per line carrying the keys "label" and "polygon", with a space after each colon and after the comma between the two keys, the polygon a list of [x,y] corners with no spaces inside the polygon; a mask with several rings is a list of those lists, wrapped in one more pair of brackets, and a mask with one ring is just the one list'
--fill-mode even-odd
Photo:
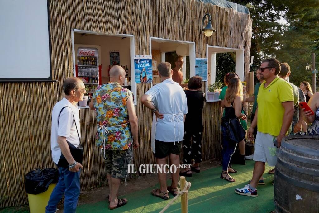
{"label": "yellow trash bin below the black bag, bottom left", "polygon": [[30,213],[45,213],[45,207],[55,186],[56,184],[50,184],[47,191],[37,195],[27,194]]}

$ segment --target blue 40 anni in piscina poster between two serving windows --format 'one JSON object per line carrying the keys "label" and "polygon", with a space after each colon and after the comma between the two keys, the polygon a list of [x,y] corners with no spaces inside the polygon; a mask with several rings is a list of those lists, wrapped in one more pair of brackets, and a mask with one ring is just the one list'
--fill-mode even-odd
{"label": "blue 40 anni in piscina poster between two serving windows", "polygon": [[135,83],[152,83],[152,55],[134,56]]}

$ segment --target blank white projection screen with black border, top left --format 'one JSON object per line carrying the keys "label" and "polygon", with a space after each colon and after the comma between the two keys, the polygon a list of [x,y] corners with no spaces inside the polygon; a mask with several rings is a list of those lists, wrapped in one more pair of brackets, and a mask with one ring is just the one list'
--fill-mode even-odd
{"label": "blank white projection screen with black border, top left", "polygon": [[0,0],[0,81],[52,81],[47,0]]}

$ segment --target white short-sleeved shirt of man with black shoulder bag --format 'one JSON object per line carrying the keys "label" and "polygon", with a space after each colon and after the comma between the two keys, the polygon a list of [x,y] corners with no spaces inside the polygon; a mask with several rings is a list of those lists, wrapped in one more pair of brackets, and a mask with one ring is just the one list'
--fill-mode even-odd
{"label": "white short-sleeved shirt of man with black shoulder bag", "polygon": [[[63,107],[65,108],[60,114],[58,125],[58,116]],[[62,100],[57,102],[56,105],[53,107],[51,126],[51,151],[53,162],[56,164],[58,164],[59,159],[61,157],[61,150],[57,142],[58,136],[66,137],[66,140],[72,143],[75,147],[78,147],[78,145],[80,144],[77,129],[73,121],[73,115],[76,125],[78,127],[79,136],[81,138],[78,107],[72,105],[71,102],[66,98],[63,98]]]}

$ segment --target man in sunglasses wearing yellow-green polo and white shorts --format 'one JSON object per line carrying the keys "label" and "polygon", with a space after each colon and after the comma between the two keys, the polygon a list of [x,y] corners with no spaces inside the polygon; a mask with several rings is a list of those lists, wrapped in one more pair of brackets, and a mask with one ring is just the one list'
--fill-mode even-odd
{"label": "man in sunglasses wearing yellow-green polo and white shorts", "polygon": [[[257,125],[257,136],[255,140],[253,178],[250,184],[243,188],[236,188],[235,193],[257,197],[257,183],[265,172],[265,163],[275,166],[277,152],[281,140],[286,136],[293,119],[293,88],[278,77],[280,63],[275,58],[269,58],[260,66],[262,72],[260,78],[265,80],[258,91],[258,108],[249,130],[248,138],[253,140],[254,128]],[[276,144],[276,145],[275,145]]]}

